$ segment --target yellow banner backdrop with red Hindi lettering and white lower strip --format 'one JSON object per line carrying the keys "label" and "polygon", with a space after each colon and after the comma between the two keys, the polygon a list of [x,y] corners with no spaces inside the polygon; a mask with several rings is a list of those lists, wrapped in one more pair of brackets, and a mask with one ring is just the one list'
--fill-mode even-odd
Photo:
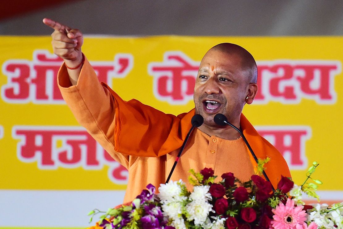
{"label": "yellow banner backdrop with red Hindi lettering and white lower strip", "polygon": [[[127,171],[80,127],[56,84],[51,38],[0,37],[0,227],[86,227],[87,212],[122,202]],[[300,184],[312,161],[323,202],[343,200],[343,37],[85,37],[99,80],[166,113],[194,107],[212,46],[245,47],[259,91],[244,114]],[[92,90],[90,88],[90,90]]]}

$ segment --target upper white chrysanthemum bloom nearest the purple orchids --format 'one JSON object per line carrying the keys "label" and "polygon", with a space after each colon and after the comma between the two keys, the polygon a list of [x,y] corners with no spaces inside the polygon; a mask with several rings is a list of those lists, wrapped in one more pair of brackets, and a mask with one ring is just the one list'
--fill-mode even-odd
{"label": "upper white chrysanthemum bloom nearest the purple orchids", "polygon": [[185,183],[182,180],[179,181],[170,181],[167,184],[161,184],[158,187],[159,193],[157,196],[161,199],[162,203],[174,202],[174,201],[183,201],[185,198],[181,196],[182,189],[180,185]]}

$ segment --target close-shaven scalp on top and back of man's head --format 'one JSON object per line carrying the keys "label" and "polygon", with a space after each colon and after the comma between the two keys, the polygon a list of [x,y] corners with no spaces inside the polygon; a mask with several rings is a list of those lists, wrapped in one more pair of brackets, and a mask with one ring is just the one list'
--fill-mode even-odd
{"label": "close-shaven scalp on top and back of man's head", "polygon": [[246,49],[232,43],[221,43],[212,47],[207,53],[211,51],[222,51],[223,53],[240,57],[241,62],[239,64],[241,65],[242,70],[249,72],[248,77],[251,83],[257,83],[256,61]]}

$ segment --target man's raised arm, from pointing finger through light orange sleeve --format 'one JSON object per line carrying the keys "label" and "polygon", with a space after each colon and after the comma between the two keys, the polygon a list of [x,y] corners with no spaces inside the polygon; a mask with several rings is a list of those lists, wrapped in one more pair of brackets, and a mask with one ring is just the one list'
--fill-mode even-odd
{"label": "man's raised arm, from pointing finger through light orange sleeve", "polygon": [[114,150],[115,99],[100,84],[94,69],[81,53],[82,33],[51,19],[45,18],[43,22],[55,30],[51,34],[52,48],[64,60],[57,76],[64,101],[78,123],[116,161],[128,168],[133,163],[129,156]]}

